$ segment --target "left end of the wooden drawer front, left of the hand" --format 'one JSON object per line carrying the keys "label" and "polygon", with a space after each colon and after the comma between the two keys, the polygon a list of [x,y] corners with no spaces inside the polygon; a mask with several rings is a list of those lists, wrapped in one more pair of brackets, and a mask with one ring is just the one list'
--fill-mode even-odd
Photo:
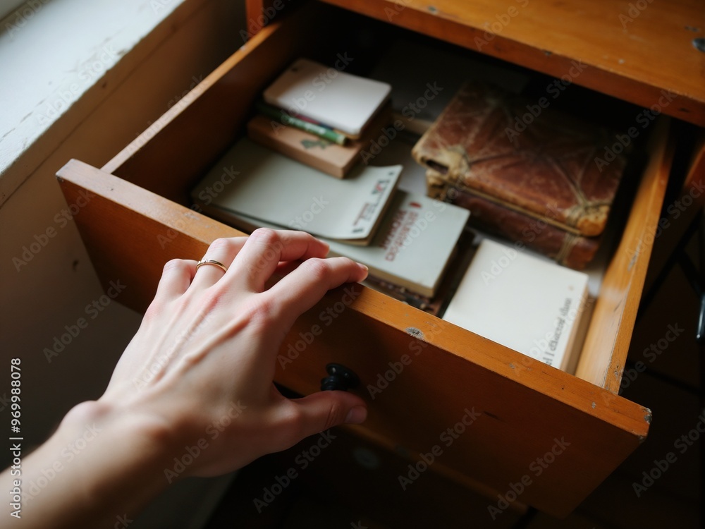
{"label": "left end of the wooden drawer front, left of the hand", "polygon": [[149,306],[168,260],[200,260],[214,239],[244,235],[121,178],[102,178],[82,162],[69,162],[59,174],[68,176],[59,181],[69,205],[89,198],[75,221],[103,286],[121,281],[117,300],[138,312]]}

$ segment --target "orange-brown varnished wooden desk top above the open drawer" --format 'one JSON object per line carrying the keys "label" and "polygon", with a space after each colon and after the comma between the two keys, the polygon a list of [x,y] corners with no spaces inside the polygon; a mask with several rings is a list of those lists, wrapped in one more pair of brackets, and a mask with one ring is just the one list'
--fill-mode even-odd
{"label": "orange-brown varnished wooden desk top above the open drawer", "polygon": [[[642,107],[661,99],[663,113],[705,126],[701,0],[644,2],[636,17],[638,3],[612,0],[324,1]],[[676,95],[665,107],[664,90]]]}

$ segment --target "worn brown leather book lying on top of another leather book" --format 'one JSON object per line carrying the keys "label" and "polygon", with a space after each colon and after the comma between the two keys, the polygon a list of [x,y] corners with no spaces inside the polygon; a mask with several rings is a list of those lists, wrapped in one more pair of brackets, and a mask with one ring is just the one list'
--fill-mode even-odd
{"label": "worn brown leather book lying on top of another leather book", "polygon": [[417,162],[455,188],[578,235],[606,224],[626,157],[596,159],[615,135],[491,85],[466,83],[417,142]]}

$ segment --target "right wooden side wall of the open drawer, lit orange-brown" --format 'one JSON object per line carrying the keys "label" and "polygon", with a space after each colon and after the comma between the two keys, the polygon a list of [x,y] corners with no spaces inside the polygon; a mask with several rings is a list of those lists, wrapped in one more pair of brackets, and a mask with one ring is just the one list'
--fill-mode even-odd
{"label": "right wooden side wall of the open drawer, lit orange-brown", "polygon": [[613,393],[619,391],[622,381],[673,162],[674,145],[667,141],[668,121],[664,119],[654,127],[649,162],[619,247],[603,277],[575,372],[577,377]]}

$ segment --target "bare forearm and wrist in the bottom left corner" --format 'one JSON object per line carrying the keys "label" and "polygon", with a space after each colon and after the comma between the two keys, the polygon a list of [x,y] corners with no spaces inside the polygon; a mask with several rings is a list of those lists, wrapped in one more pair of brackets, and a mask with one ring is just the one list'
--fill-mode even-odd
{"label": "bare forearm and wrist in the bottom left corner", "polygon": [[20,480],[18,527],[112,528],[166,488],[171,451],[168,433],[152,418],[82,403],[23,459],[21,475],[8,469],[0,483],[12,490]]}

